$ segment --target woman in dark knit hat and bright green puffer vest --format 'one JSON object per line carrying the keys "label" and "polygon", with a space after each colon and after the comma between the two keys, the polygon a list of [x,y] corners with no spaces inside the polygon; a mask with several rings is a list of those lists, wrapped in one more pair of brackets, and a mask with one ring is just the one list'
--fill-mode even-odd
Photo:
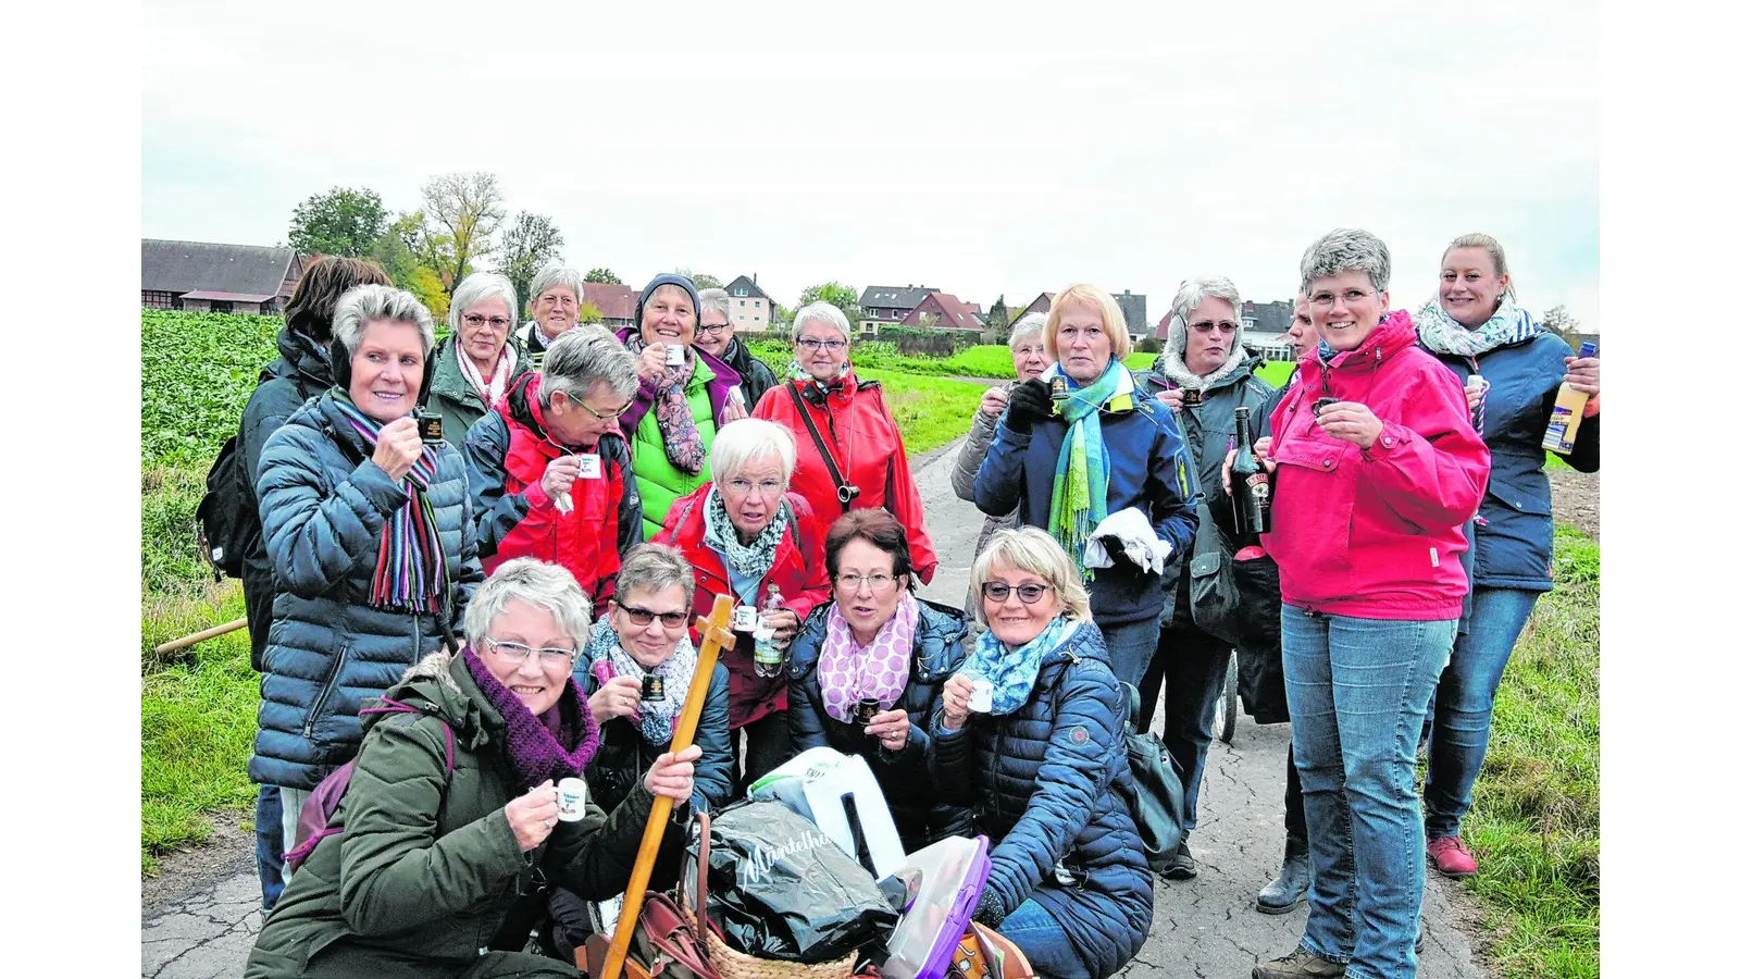
{"label": "woman in dark knit hat and bright green puffer vest", "polygon": [[[646,540],[665,526],[670,505],[708,483],[719,425],[748,416],[743,376],[694,345],[699,294],[684,275],[656,275],[635,300],[635,322],[616,336],[640,357],[640,392],[621,416],[640,483]],[[682,362],[668,362],[670,350]]]}

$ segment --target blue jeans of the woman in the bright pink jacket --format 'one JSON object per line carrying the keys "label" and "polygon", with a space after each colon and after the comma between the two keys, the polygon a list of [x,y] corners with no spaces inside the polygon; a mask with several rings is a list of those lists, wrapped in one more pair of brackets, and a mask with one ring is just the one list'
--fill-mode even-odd
{"label": "blue jeans of the woman in the bright pink jacket", "polygon": [[1345,962],[1347,979],[1415,976],[1425,894],[1415,747],[1455,639],[1455,618],[1378,620],[1281,606],[1315,874],[1300,944]]}

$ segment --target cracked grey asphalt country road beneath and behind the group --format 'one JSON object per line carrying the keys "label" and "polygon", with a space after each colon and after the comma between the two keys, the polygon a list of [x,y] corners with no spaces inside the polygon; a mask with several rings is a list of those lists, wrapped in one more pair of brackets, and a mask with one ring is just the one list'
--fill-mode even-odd
{"label": "cracked grey asphalt country road beneath and behind the group", "polygon": [[[959,444],[915,460],[926,502],[926,528],[941,566],[920,594],[959,604],[966,596],[973,544],[983,516],[955,500],[948,470]],[[1305,927],[1305,909],[1258,915],[1256,892],[1281,862],[1281,796],[1288,725],[1256,726],[1241,718],[1234,744],[1215,742],[1202,777],[1199,826],[1190,852],[1201,874],[1194,881],[1155,881],[1154,927],[1129,979],[1178,976],[1242,979],[1256,962],[1291,951]],[[198,881],[190,892],[160,897],[144,909],[141,976],[146,979],[216,979],[242,974],[259,930],[259,885],[252,854],[237,866]],[[1482,972],[1469,939],[1455,925],[1448,881],[1427,874],[1425,951],[1422,979],[1470,979]]]}

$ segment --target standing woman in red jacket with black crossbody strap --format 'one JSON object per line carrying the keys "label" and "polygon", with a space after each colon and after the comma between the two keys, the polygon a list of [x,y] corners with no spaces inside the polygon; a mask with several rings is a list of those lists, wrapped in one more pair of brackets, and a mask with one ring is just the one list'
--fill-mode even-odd
{"label": "standing woman in red jacket with black crossbody strap", "polygon": [[884,507],[907,528],[914,573],[931,584],[936,549],[924,533],[924,502],[907,467],[907,444],[882,385],[853,373],[846,314],[809,303],[792,317],[792,336],[800,380],[771,388],[755,406],[755,418],[778,422],[797,439],[792,491],[809,500],[825,528],[849,509]]}

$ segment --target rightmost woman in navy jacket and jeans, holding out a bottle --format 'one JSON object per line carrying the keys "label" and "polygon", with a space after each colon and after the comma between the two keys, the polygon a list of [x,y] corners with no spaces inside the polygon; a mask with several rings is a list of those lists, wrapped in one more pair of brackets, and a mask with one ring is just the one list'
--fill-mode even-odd
{"label": "rightmost woman in navy jacket and jeans, holding out a bottle", "polygon": [[1439,679],[1425,782],[1427,859],[1439,873],[1469,876],[1479,864],[1462,840],[1462,817],[1486,760],[1493,697],[1535,601],[1552,589],[1552,488],[1540,442],[1569,380],[1590,399],[1564,462],[1580,472],[1601,467],[1601,361],[1575,359],[1516,305],[1505,251],[1488,235],[1449,242],[1437,300],[1416,322],[1420,343],[1463,380],[1493,455],[1469,550],[1472,608]]}

